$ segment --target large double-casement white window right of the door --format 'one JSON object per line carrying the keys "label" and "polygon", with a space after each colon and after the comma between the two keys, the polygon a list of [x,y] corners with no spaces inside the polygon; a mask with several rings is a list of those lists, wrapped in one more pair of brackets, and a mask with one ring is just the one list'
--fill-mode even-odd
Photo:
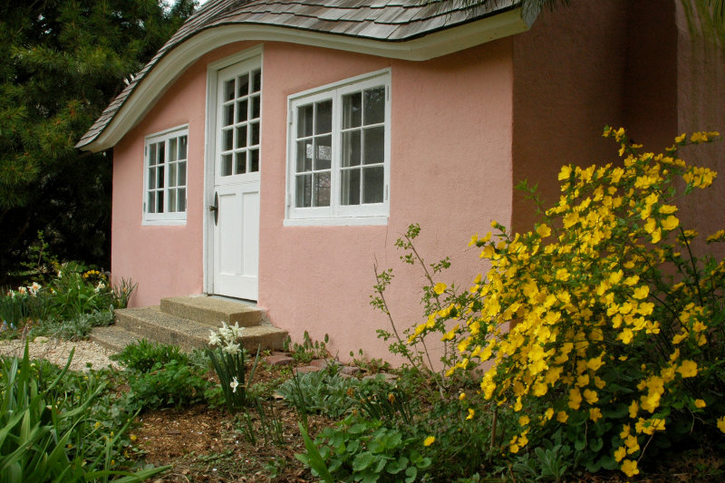
{"label": "large double-casement white window right of the door", "polygon": [[290,100],[288,219],[388,214],[390,74]]}

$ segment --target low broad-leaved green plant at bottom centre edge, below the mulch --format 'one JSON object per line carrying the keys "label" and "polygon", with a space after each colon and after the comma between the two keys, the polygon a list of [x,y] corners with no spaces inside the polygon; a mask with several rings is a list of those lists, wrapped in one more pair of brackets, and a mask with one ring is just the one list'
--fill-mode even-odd
{"label": "low broad-leaved green plant at bottom centre edge, below the mulch", "polygon": [[326,468],[334,481],[418,481],[431,463],[420,438],[353,414],[324,429],[314,446],[311,452],[305,441],[307,452],[297,459],[320,476]]}

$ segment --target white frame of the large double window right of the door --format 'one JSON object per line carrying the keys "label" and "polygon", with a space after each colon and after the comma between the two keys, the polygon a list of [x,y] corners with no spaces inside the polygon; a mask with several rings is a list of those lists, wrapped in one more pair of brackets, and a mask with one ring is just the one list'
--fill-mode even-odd
{"label": "white frame of the large double window right of the door", "polygon": [[[341,203],[341,163],[342,163],[342,119],[343,95],[370,89],[376,86],[385,88],[384,121],[384,170],[383,193],[381,203],[361,203],[343,205]],[[297,108],[316,101],[333,100],[332,167],[330,180],[329,207],[295,207],[295,167]],[[386,225],[390,215],[390,153],[391,153],[391,70],[356,76],[341,82],[334,82],[309,91],[298,92],[287,98],[287,176],[285,226],[329,226],[329,225]]]}

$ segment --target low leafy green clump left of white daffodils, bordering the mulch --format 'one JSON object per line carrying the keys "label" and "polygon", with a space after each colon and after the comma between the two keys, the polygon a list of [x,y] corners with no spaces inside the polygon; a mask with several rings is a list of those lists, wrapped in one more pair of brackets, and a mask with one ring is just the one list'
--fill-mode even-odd
{"label": "low leafy green clump left of white daffodils, bordering the mulch", "polygon": [[150,372],[134,372],[129,377],[131,407],[147,411],[204,401],[209,387],[204,376],[197,367],[176,359],[156,363]]}

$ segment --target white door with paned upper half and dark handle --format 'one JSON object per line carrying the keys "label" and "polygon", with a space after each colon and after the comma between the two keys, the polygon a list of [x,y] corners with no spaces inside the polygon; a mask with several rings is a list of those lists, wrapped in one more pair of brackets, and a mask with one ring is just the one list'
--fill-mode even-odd
{"label": "white door with paned upper half and dark handle", "polygon": [[258,58],[218,72],[212,217],[212,292],[256,300],[259,265]]}

